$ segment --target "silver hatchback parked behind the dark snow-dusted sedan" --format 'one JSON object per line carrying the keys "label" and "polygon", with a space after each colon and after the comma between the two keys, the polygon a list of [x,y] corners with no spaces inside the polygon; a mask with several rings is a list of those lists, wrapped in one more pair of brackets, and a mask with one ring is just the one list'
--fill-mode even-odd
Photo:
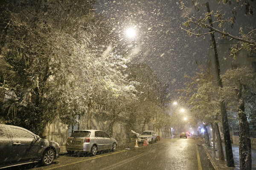
{"label": "silver hatchback parked behind the dark snow-dusted sedan", "polygon": [[99,150],[116,151],[117,142],[112,136],[102,130],[75,130],[67,139],[66,150],[90,153],[95,156]]}

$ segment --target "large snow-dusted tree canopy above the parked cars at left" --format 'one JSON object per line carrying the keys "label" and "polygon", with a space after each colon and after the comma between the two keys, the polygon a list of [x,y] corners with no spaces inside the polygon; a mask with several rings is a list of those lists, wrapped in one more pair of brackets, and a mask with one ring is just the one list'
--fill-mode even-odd
{"label": "large snow-dusted tree canopy above the parked cars at left", "polygon": [[90,2],[0,5],[0,85],[10,96],[0,100],[1,116],[9,124],[41,134],[56,118],[69,125],[84,114],[90,126],[93,103],[107,99],[106,91],[113,96],[134,91],[122,74],[126,60],[105,46],[109,27]]}

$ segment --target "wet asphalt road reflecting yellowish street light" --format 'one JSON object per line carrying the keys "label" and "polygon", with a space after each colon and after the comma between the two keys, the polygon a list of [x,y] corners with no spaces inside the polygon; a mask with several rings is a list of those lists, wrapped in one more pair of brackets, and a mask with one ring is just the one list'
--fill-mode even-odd
{"label": "wet asphalt road reflecting yellowish street light", "polygon": [[[101,153],[97,156],[60,156],[47,167],[30,170],[214,170],[201,147],[191,138],[161,139],[157,143],[131,150]],[[134,144],[135,145],[135,144]],[[139,144],[142,146],[142,144]],[[198,158],[199,157],[199,158]],[[31,165],[30,165],[31,166]]]}

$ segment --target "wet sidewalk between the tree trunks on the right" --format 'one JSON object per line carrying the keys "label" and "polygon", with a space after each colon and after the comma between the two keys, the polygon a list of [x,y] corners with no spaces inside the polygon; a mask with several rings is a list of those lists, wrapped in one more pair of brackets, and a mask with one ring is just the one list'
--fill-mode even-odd
{"label": "wet sidewalk between the tree trunks on the right", "polygon": [[[202,146],[204,147],[204,150],[206,151],[206,154],[209,157],[210,161],[212,162],[212,165],[215,168],[215,170],[240,170],[240,168],[239,168],[239,146],[238,145],[232,144],[235,167],[227,167],[224,144],[222,144],[222,147],[223,147],[225,160],[218,159],[218,151],[216,151],[216,155],[214,156],[212,142],[211,142],[210,147],[207,147],[206,144],[202,144]],[[217,150],[217,146],[215,147],[215,150]],[[256,170],[256,150],[254,150],[254,149],[252,149],[252,170]]]}

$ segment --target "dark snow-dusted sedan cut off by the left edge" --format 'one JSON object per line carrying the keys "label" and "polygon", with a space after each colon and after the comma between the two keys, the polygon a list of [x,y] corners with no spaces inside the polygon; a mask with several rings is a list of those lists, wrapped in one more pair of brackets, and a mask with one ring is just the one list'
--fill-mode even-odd
{"label": "dark snow-dusted sedan cut off by the left edge", "polygon": [[59,152],[57,142],[42,139],[22,127],[0,124],[0,168],[35,162],[50,165]]}

